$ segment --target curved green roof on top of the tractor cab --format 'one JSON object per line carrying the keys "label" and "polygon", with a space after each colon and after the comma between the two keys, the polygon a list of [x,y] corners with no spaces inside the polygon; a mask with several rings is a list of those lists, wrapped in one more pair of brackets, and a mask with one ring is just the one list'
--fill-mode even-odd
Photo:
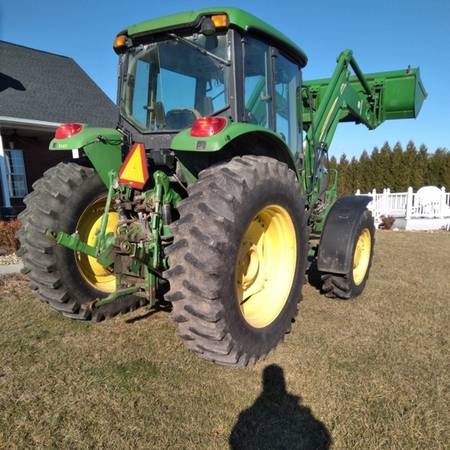
{"label": "curved green roof on top of the tractor cab", "polygon": [[199,23],[202,16],[221,14],[228,15],[230,26],[238,28],[243,31],[254,32],[256,34],[266,37],[270,42],[280,46],[292,58],[294,58],[302,67],[308,61],[306,54],[298,47],[291,39],[283,33],[269,25],[268,23],[258,19],[253,14],[243,11],[239,8],[231,7],[214,7],[204,8],[197,11],[187,11],[170,16],[159,17],[157,19],[150,19],[144,22],[131,25],[119,34],[127,34],[130,37],[142,35],[146,33],[154,33],[165,30],[174,30],[177,28],[186,28],[195,26]]}

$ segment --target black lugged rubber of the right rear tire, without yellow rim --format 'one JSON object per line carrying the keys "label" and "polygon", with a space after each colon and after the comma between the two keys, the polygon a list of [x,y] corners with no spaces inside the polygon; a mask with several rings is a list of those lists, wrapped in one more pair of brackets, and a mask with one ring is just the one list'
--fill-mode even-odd
{"label": "black lugged rubber of the right rear tire, without yellow rim", "polygon": [[[289,331],[301,300],[306,267],[304,202],[292,170],[261,156],[235,157],[199,175],[173,224],[168,248],[177,334],[205,359],[246,366],[269,353]],[[243,317],[235,285],[241,239],[261,208],[280,205],[295,227],[296,263],[283,309],[269,325],[252,327]]]}

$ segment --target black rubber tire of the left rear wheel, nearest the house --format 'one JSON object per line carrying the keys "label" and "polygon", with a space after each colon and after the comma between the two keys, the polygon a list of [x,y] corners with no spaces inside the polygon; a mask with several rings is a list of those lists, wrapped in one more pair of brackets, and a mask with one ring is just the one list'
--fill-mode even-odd
{"label": "black rubber tire of the left rear wheel, nearest the house", "polygon": [[73,251],[47,238],[47,229],[73,233],[85,208],[104,196],[106,188],[96,172],[74,163],[59,163],[33,184],[19,215],[19,255],[30,287],[64,316],[100,321],[136,309],[143,299],[129,297],[90,312],[82,305],[107,294],[89,285],[80,274]]}

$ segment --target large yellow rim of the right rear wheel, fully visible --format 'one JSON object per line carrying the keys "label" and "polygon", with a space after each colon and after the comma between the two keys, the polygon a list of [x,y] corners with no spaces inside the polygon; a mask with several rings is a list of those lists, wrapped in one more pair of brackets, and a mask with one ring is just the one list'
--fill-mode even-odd
{"label": "large yellow rim of the right rear wheel, fully visible", "polygon": [[297,238],[289,213],[278,205],[263,208],[241,240],[236,290],[244,319],[255,328],[272,323],[291,292]]}

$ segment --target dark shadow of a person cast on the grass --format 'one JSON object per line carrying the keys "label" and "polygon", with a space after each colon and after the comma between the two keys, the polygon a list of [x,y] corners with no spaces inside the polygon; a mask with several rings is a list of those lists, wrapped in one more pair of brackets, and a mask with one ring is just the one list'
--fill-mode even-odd
{"label": "dark shadow of a person cast on the grass", "polygon": [[283,369],[276,364],[263,372],[263,391],[239,414],[231,431],[232,450],[327,450],[331,436],[301,398],[286,391]]}

